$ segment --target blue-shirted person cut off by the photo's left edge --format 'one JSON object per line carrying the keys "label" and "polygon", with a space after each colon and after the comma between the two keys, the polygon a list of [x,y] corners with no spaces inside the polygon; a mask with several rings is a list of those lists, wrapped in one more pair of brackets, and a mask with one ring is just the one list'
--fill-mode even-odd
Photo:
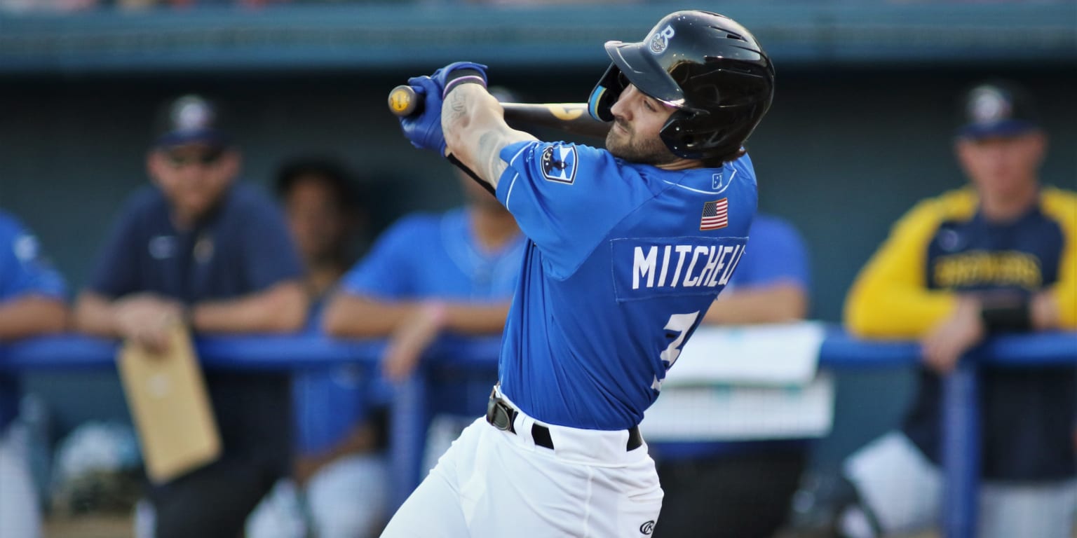
{"label": "blue-shirted person cut off by the photo's left edge", "polygon": [[[67,323],[64,279],[41,257],[38,240],[0,211],[0,342],[62,330]],[[14,394],[0,379],[0,536],[41,534],[38,495],[25,447],[8,435]]]}

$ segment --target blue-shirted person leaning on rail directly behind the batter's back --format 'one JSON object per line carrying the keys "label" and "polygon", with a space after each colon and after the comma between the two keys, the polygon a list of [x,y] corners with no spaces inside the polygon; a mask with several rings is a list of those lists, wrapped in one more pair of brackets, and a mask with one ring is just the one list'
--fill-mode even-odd
{"label": "blue-shirted person leaning on rail directly behind the batter's back", "polygon": [[[810,282],[800,235],[785,221],[760,213],[749,245],[703,323],[803,320]],[[773,535],[808,459],[808,441],[800,439],[660,443],[656,449],[666,492],[656,538]]]}

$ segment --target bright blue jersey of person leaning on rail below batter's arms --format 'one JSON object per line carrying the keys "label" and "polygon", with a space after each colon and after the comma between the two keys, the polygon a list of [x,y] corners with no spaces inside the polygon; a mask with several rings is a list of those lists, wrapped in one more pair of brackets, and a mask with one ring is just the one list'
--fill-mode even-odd
{"label": "bright blue jersey of person leaning on rail below batter's arms", "polygon": [[516,288],[523,237],[487,252],[472,232],[468,215],[457,209],[401,218],[348,271],[344,291],[391,300],[508,300]]}

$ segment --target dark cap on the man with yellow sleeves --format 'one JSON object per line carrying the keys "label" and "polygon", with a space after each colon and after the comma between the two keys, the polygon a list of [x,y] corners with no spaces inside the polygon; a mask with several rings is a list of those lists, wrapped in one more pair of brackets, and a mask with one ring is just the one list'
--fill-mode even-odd
{"label": "dark cap on the man with yellow sleeves", "polygon": [[961,118],[961,138],[1016,137],[1039,128],[1039,116],[1027,91],[1005,81],[985,82],[969,89]]}

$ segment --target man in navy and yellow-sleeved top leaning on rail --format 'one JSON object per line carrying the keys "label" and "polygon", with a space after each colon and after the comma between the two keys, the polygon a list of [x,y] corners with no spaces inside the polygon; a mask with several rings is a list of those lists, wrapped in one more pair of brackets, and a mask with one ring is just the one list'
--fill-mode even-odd
{"label": "man in navy and yellow-sleeved top leaning on rail", "polygon": [[[905,533],[939,516],[941,377],[985,337],[1077,328],[1077,194],[1041,186],[1047,147],[1012,83],[965,96],[954,148],[970,188],[913,208],[863,269],[845,305],[863,337],[918,338],[924,368],[911,412],[844,466],[859,505],[852,537]],[[981,537],[1068,538],[1077,509],[1077,368],[980,371]]]}

